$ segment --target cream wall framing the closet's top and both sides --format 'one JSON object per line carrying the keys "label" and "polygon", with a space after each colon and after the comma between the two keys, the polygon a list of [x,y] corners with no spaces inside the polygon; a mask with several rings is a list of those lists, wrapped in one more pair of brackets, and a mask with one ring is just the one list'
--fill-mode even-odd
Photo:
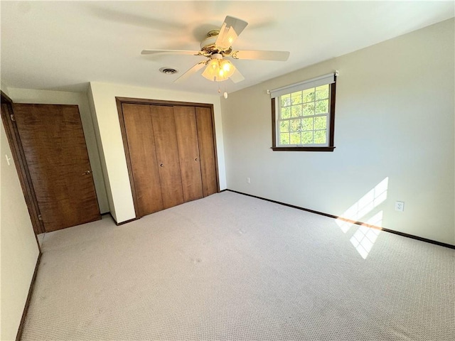
{"label": "cream wall framing the closet's top and both sides", "polygon": [[102,168],[105,175],[107,196],[111,213],[117,222],[133,219],[135,213],[115,97],[213,104],[220,189],[226,188],[223,126],[218,94],[195,94],[90,82],[89,102],[93,111],[92,114],[94,114],[94,121],[96,121],[97,139],[101,144],[100,155],[102,155]]}

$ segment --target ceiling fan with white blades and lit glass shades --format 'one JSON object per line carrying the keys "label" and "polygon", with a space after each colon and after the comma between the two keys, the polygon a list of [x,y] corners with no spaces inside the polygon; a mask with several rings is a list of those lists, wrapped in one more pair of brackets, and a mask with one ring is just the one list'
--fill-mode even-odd
{"label": "ceiling fan with white blades and lit glass shades", "polygon": [[207,60],[202,60],[190,70],[178,77],[174,82],[182,82],[198,72],[204,66],[203,77],[214,82],[222,82],[230,78],[232,82],[241,82],[245,77],[236,67],[225,58],[250,59],[250,60],[277,60],[286,61],[289,58],[288,51],[262,51],[262,50],[233,50],[232,43],[235,42],[240,33],[247,27],[248,23],[233,16],[226,16],[220,30],[212,30],[207,33],[200,43],[200,51],[191,50],[142,50],[142,55],[201,55]]}

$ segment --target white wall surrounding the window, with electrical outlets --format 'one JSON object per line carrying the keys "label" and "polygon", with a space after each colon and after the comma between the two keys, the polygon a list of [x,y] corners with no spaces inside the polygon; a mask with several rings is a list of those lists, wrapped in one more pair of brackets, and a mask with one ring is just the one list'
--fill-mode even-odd
{"label": "white wall surrounding the window, with electrical outlets", "polygon": [[[350,217],[388,178],[387,200],[358,220],[382,212],[383,227],[455,244],[454,59],[451,19],[230,94],[228,188]],[[267,90],[334,70],[335,151],[272,151]]]}

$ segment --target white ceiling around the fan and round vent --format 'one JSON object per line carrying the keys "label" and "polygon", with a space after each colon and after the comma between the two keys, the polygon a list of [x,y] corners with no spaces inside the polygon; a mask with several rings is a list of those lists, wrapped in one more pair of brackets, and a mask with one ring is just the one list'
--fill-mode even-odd
{"label": "white ceiling around the fan and round vent", "polygon": [[[226,15],[249,25],[236,50],[289,50],[287,62],[235,60],[240,90],[454,16],[454,1],[1,1],[1,82],[9,87],[82,91],[87,82],[215,94],[218,83],[178,75],[203,60],[141,55],[144,49],[199,50]],[[164,75],[160,67],[178,75]]]}

